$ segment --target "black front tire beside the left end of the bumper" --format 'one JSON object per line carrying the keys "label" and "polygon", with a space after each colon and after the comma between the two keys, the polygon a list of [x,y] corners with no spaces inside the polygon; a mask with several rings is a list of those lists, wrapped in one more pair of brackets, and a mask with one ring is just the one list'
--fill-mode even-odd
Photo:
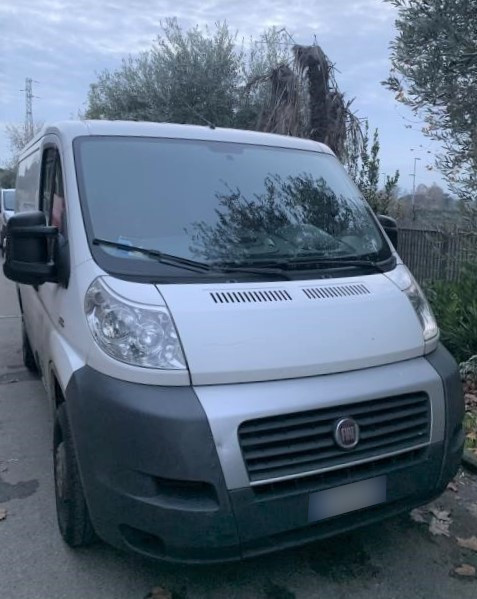
{"label": "black front tire beside the left end of the bumper", "polygon": [[56,411],[53,440],[55,498],[58,527],[70,547],[85,547],[96,540],[78,471],[65,404]]}

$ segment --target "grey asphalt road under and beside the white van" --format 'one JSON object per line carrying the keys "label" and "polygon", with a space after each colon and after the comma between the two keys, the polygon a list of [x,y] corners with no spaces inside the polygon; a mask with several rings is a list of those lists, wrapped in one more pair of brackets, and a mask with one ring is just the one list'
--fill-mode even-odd
{"label": "grey asphalt road under and beside the white van", "polygon": [[226,566],[172,567],[101,543],[70,550],[56,528],[45,394],[22,366],[15,288],[0,275],[0,599],[143,599],[154,587],[173,599],[475,599],[477,579],[449,573],[477,566],[455,538],[477,535],[477,478],[461,473],[456,489],[436,502],[451,512],[448,538],[404,515]]}

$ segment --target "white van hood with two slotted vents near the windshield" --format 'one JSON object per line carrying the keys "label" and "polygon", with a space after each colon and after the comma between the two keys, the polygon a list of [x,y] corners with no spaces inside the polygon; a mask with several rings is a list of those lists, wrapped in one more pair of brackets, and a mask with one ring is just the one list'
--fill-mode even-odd
{"label": "white van hood with two slotted vents near the windshield", "polygon": [[382,274],[157,288],[193,385],[346,372],[424,353],[410,301]]}

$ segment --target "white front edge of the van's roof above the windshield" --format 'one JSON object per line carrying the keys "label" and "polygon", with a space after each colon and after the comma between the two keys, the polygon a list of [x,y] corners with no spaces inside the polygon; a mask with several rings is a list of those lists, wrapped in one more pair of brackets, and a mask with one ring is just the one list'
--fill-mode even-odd
{"label": "white front edge of the van's roof above the windshield", "polygon": [[118,135],[131,137],[163,137],[172,139],[196,139],[204,141],[225,141],[235,143],[248,143],[263,146],[278,146],[283,148],[295,148],[333,154],[325,144],[287,135],[274,133],[261,133],[257,131],[245,131],[241,129],[213,129],[201,125],[176,125],[171,123],[152,123],[138,121],[61,121],[47,124],[42,130],[25,146],[22,153],[31,148],[42,137],[55,134],[63,142],[72,142],[76,137],[84,135]]}

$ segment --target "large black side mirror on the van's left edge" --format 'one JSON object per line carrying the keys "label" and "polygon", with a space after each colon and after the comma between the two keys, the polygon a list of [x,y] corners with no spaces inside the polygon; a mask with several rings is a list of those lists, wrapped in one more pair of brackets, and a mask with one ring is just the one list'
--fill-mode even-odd
{"label": "large black side mirror on the van's left edge", "polygon": [[7,223],[7,246],[3,272],[8,279],[24,285],[57,283],[53,259],[58,229],[46,226],[43,212],[21,212]]}

